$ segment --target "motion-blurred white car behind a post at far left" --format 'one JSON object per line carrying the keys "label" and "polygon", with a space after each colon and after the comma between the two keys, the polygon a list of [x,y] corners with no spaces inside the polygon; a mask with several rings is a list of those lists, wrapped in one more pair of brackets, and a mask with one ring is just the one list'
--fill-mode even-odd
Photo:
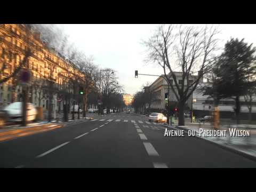
{"label": "motion-blurred white car behind a post at far left", "polygon": [[[13,102],[4,108],[7,114],[7,121],[22,121],[22,102]],[[27,103],[27,121],[36,121],[37,110],[33,103]]]}

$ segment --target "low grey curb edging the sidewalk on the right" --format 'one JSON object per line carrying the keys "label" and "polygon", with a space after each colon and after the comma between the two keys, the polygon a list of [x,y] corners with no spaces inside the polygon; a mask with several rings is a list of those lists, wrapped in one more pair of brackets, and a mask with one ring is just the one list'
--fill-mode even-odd
{"label": "low grey curb edging the sidewalk on the right", "polygon": [[[170,127],[169,125],[164,125],[164,126]],[[177,130],[181,129],[181,130],[186,131],[186,133],[187,133],[187,131],[189,130],[189,129],[186,129],[185,127],[179,127],[179,126],[170,127],[170,128],[172,128],[172,129],[177,129]],[[207,141],[207,142],[209,142],[209,143],[211,143],[211,144],[213,144],[213,145],[215,145],[215,146],[218,146],[218,147],[220,147],[220,148],[222,148],[222,149],[225,149],[225,150],[231,151],[231,152],[233,152],[233,153],[235,153],[235,154],[238,154],[238,155],[241,155],[241,156],[243,156],[243,157],[249,158],[249,159],[251,159],[252,161],[256,161],[256,156],[247,154],[247,153],[245,153],[245,152],[243,152],[243,151],[241,151],[241,150],[237,150],[237,149],[234,149],[234,148],[232,148],[232,147],[229,147],[229,146],[226,146],[226,145],[222,145],[222,144],[220,144],[220,143],[217,143],[217,142],[214,142],[214,141],[211,141],[211,140],[204,139],[203,137],[199,137],[198,135],[196,135],[194,138],[202,139],[202,140]]]}

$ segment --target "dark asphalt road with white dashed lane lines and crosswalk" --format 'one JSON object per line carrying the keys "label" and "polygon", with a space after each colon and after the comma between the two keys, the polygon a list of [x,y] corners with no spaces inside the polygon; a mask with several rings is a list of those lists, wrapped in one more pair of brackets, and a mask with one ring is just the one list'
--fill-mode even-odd
{"label": "dark asphalt road with white dashed lane lines and crosswalk", "polygon": [[256,167],[256,162],[120,113],[0,142],[0,167]]}

